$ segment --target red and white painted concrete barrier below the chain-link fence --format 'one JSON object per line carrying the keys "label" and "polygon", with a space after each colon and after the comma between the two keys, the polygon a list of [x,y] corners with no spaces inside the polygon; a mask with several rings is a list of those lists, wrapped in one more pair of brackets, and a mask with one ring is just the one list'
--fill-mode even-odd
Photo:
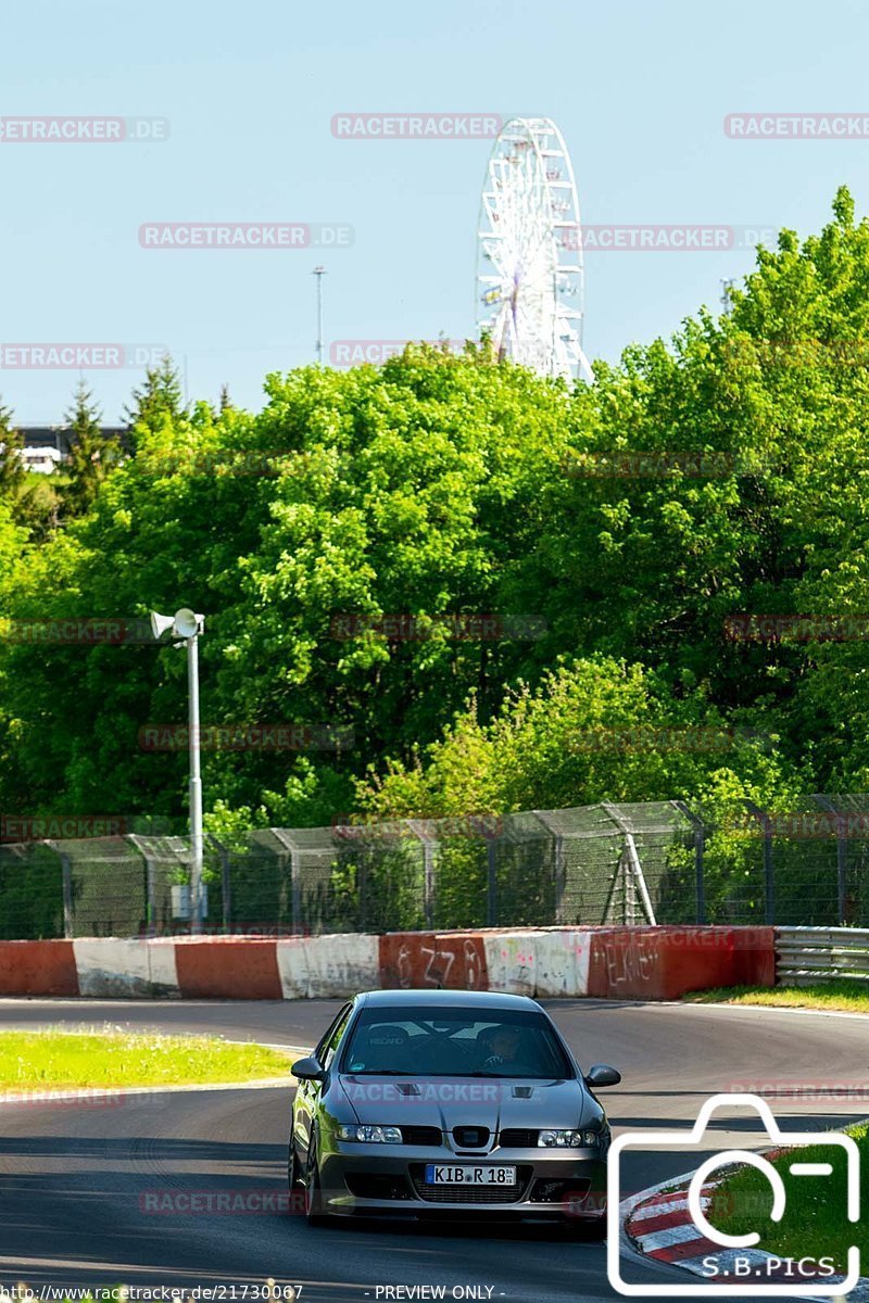
{"label": "red and white painted concrete barrier below the chain-link fence", "polygon": [[658,1001],[743,985],[775,985],[773,928],[0,941],[0,995],[340,999],[443,986]]}

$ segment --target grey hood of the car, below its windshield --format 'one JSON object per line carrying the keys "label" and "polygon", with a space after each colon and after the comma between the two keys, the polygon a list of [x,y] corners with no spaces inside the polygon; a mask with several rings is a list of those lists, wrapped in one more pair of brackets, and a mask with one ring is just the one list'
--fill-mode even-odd
{"label": "grey hood of the car, below its windshield", "polygon": [[584,1127],[603,1117],[578,1080],[395,1078],[345,1074],[339,1079],[360,1122],[423,1126]]}

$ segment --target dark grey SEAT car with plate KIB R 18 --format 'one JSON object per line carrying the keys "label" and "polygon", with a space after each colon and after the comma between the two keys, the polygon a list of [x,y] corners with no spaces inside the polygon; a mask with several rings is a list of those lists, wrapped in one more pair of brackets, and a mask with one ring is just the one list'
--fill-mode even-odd
{"label": "dark grey SEAT car with plate KIB R 18", "polygon": [[345,1005],[300,1085],[291,1196],[326,1214],[486,1216],[606,1225],[610,1128],[547,1012],[525,995],[378,990]]}

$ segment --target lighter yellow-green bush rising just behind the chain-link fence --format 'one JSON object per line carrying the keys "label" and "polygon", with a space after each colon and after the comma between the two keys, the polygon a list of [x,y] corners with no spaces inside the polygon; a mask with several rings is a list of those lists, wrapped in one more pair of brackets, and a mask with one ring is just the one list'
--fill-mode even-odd
{"label": "lighter yellow-green bush rising just behind the chain-link fence", "polygon": [[360,795],[387,820],[697,799],[722,770],[747,795],[769,795],[780,786],[771,743],[728,724],[700,693],[674,701],[653,671],[594,655],[508,692],[489,723],[469,704],[425,764],[392,761]]}

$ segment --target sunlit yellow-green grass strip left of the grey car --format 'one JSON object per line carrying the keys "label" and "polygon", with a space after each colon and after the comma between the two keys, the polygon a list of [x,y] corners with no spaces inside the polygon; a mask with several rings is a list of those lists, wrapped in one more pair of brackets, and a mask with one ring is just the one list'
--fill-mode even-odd
{"label": "sunlit yellow-green grass strip left of the grey car", "polygon": [[297,1054],[215,1036],[158,1036],[104,1028],[0,1032],[0,1089],[216,1085],[287,1076]]}

